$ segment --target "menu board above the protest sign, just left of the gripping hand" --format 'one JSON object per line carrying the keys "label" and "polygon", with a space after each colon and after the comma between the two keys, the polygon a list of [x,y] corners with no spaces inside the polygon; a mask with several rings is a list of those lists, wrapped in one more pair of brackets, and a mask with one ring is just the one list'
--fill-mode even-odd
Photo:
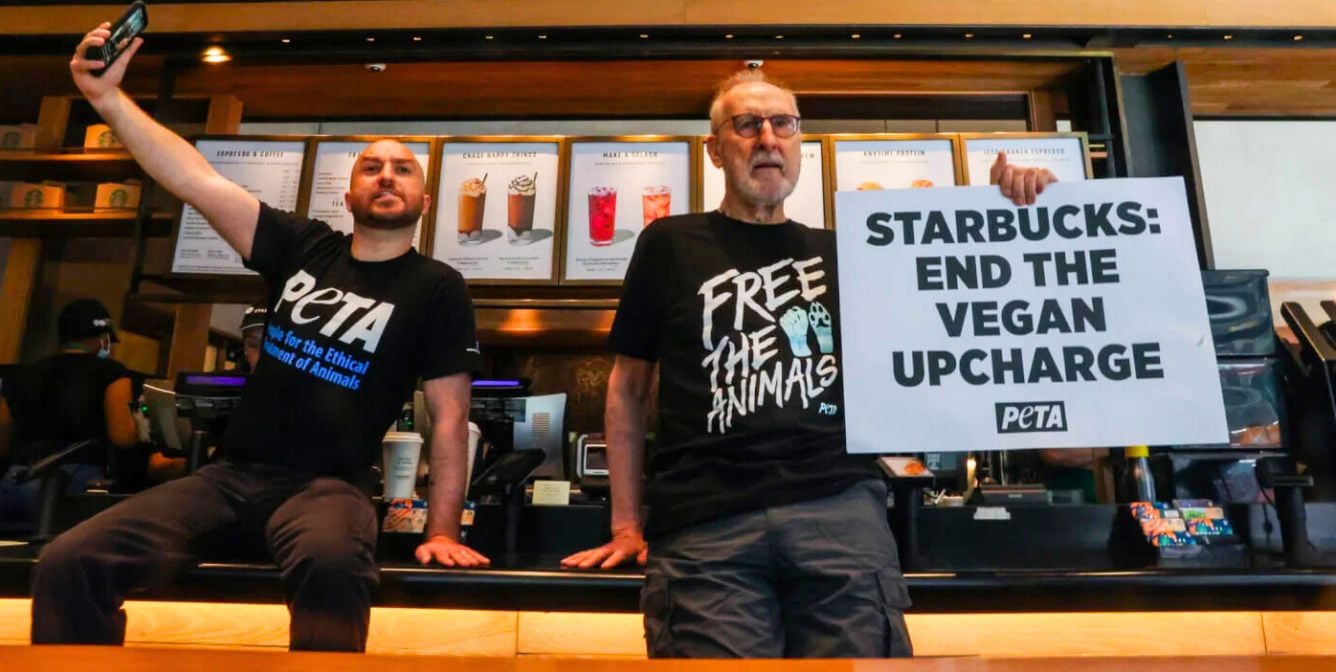
{"label": "menu board above the protest sign, just left of the gripping hand", "polygon": [[947,138],[832,142],[835,191],[955,186],[955,148]]}

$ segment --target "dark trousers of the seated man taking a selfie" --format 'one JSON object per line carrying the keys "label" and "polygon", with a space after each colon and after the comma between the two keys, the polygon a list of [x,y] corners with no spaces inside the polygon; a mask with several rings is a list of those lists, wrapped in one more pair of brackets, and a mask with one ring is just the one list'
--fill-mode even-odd
{"label": "dark trousers of the seated man taking a selfie", "polygon": [[365,651],[375,508],[339,478],[218,462],[56,537],[32,580],[33,644],[123,644],[127,595],[171,581],[210,542],[263,540],[283,577],[291,649]]}

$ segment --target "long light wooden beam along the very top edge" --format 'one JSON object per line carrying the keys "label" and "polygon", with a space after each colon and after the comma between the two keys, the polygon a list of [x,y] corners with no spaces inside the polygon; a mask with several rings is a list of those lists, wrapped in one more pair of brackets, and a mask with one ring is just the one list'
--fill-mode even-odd
{"label": "long light wooden beam along the very top edge", "polygon": [[[17,35],[80,35],[98,20],[114,20],[110,5],[16,5],[0,8],[0,25]],[[767,0],[355,0],[294,3],[182,3],[152,8],[152,31],[337,31],[525,27],[752,27],[783,25],[961,25],[961,27],[1164,27],[1303,28],[1336,25],[1331,0],[955,0],[887,3],[828,0],[796,3],[783,12]]]}

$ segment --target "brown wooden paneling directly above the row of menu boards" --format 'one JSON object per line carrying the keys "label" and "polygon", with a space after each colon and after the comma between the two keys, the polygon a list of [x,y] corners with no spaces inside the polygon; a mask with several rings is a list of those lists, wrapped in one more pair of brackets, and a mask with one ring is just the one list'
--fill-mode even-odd
{"label": "brown wooden paneling directly above the row of menu boards", "polygon": [[[713,86],[736,60],[285,64],[192,68],[178,95],[230,94],[247,119],[704,118]],[[1079,71],[1074,60],[772,60],[767,73],[799,96],[1021,92]],[[330,96],[330,91],[366,92]]]}

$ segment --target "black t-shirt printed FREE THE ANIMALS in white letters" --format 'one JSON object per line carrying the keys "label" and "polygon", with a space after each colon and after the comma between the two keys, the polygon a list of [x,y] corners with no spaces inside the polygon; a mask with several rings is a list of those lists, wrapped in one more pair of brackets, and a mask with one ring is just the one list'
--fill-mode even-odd
{"label": "black t-shirt printed FREE THE ANIMALS in white letters", "polygon": [[719,212],[645,228],[611,342],[659,361],[647,537],[875,476],[844,452],[838,311],[831,231]]}

